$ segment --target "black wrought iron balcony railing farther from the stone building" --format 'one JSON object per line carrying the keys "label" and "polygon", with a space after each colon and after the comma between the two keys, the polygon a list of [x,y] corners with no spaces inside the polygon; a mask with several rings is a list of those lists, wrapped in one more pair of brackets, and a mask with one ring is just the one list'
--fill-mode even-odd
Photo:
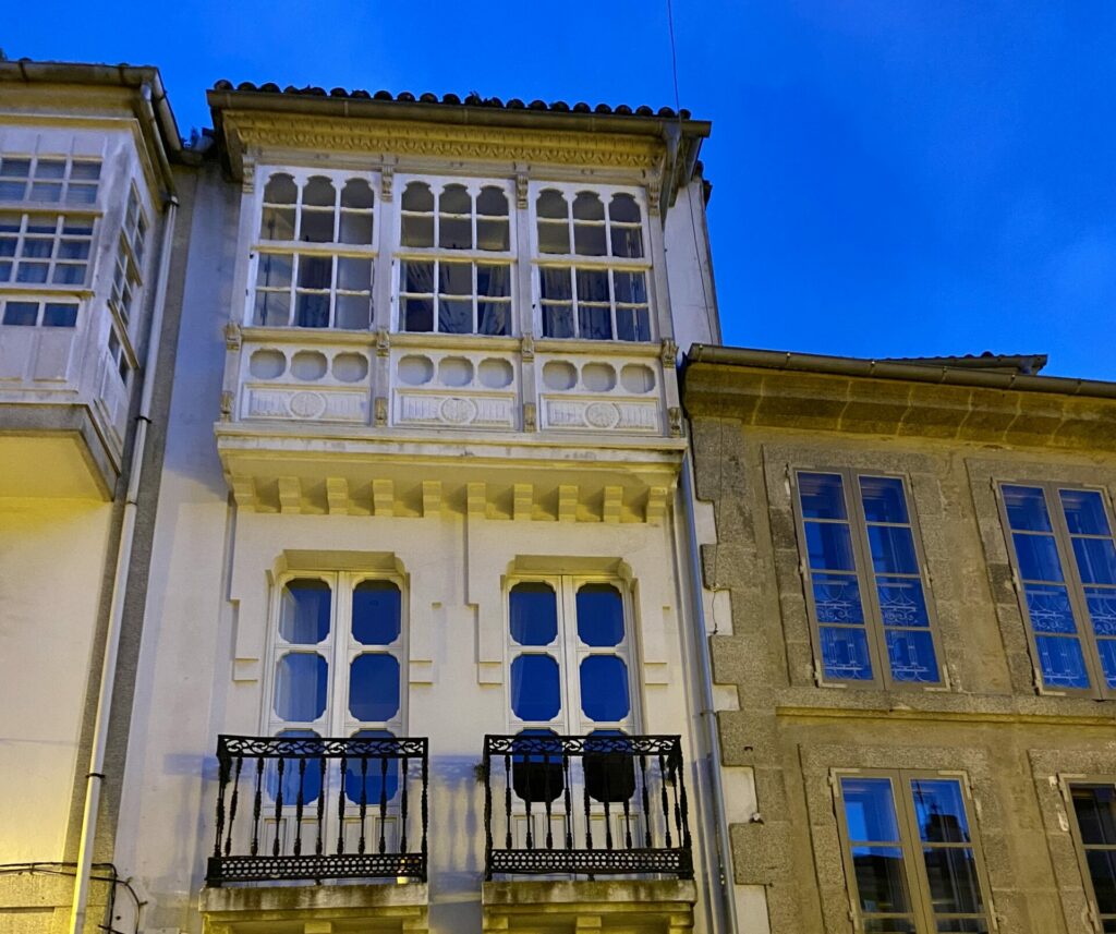
{"label": "black wrought iron balcony railing farther from the stone building", "polygon": [[218,739],[205,882],[426,879],[425,739]]}

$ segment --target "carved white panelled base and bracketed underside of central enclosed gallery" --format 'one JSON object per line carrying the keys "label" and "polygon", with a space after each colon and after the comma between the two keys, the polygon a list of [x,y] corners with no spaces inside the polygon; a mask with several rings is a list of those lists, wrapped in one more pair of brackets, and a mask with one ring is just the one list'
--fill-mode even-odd
{"label": "carved white panelled base and bracketed underside of central enclosed gallery", "polygon": [[218,449],[257,511],[654,522],[684,451],[675,353],[230,326]]}

